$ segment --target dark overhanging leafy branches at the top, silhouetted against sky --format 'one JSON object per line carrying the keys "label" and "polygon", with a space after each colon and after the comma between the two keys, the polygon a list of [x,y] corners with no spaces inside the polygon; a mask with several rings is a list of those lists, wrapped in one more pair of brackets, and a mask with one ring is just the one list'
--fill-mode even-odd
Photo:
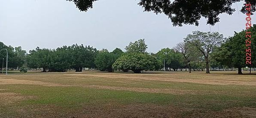
{"label": "dark overhanging leafy branches at the top, silhouetted against sky", "polygon": [[[93,7],[93,2],[97,0],[67,0],[76,4],[81,11],[87,11]],[[183,24],[199,25],[201,17],[207,19],[207,24],[214,25],[219,22],[219,15],[226,13],[232,15],[235,12],[232,3],[245,1],[251,3],[252,12],[256,11],[255,0],[140,0],[138,5],[144,8],[145,12],[164,13],[171,19],[174,26]],[[246,7],[241,9],[246,13]]]}

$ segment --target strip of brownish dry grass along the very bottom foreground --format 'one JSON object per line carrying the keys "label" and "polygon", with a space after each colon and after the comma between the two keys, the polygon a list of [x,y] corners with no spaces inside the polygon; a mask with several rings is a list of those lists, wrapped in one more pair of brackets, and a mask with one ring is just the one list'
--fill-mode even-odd
{"label": "strip of brownish dry grass along the very bottom foreground", "polygon": [[[58,110],[57,110],[58,109]],[[65,111],[55,105],[21,107],[19,112],[29,112],[27,118],[255,118],[255,108],[229,108],[219,112],[198,109],[184,109],[177,106],[156,104],[107,103],[96,106],[86,105],[80,109]],[[38,114],[40,112],[40,114]],[[185,113],[185,114],[184,114]],[[188,115],[189,113],[189,115]]]}

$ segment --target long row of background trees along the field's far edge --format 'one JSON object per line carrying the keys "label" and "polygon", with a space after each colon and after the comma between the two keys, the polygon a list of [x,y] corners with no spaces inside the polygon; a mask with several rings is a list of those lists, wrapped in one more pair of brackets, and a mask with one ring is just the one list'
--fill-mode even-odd
{"label": "long row of background trees along the field's far edge", "polygon": [[[28,53],[21,47],[6,46],[0,42],[0,58],[8,56],[9,69],[42,68],[43,72],[66,72],[74,69],[81,72],[83,68],[98,69],[100,71],[206,71],[212,68],[255,68],[246,65],[246,32],[252,32],[252,49],[255,49],[256,25],[249,30],[235,32],[234,36],[224,38],[219,32],[194,31],[175,47],[163,48],[157,53],[148,53],[144,39],[131,42],[125,51],[116,48],[112,52],[97,50],[91,46],[73,44],[71,46],[46,49],[37,47]],[[256,62],[256,53],[252,53],[252,63]],[[3,64],[1,61],[0,64]]]}

